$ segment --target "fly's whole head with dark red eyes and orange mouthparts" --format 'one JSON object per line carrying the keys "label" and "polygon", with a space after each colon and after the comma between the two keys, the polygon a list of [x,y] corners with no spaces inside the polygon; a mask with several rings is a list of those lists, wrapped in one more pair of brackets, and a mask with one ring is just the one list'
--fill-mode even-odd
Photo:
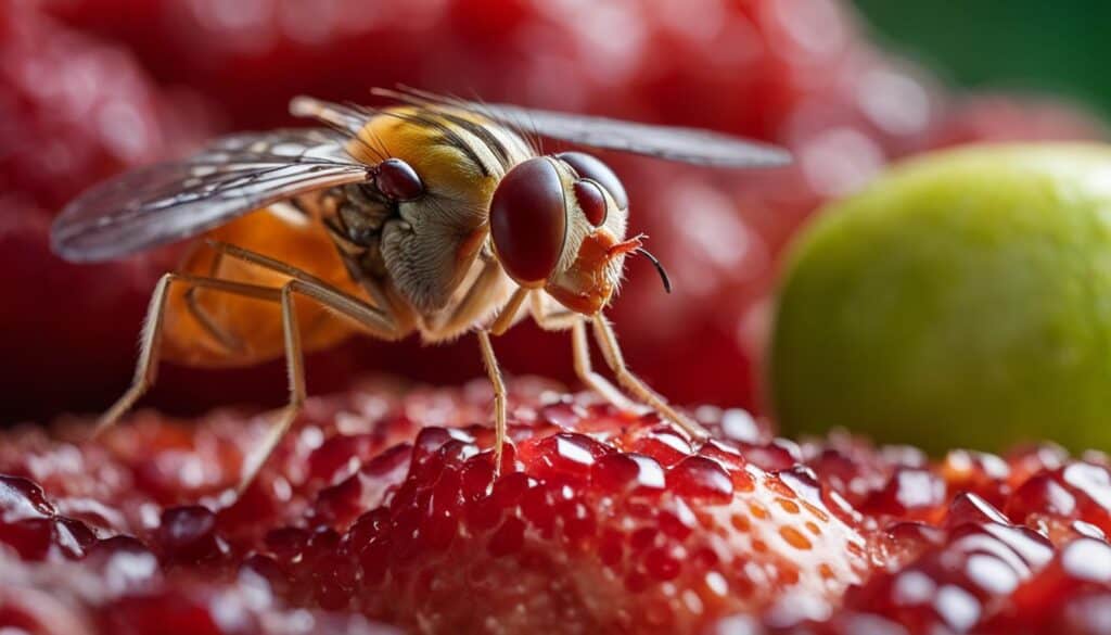
{"label": "fly's whole head with dark red eyes and orange mouthparts", "polygon": [[491,238],[509,275],[585,315],[610,301],[625,254],[640,245],[625,240],[628,218],[628,198],[617,177],[578,152],[516,167],[490,208]]}

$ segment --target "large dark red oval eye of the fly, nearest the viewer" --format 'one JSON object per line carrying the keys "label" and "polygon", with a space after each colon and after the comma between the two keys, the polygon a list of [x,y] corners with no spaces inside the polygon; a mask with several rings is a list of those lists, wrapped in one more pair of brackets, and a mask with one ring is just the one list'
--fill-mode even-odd
{"label": "large dark red oval eye of the fly, nearest the viewer", "polygon": [[518,282],[548,279],[567,237],[563,186],[548,159],[529,159],[509,171],[490,201],[490,235],[498,259]]}

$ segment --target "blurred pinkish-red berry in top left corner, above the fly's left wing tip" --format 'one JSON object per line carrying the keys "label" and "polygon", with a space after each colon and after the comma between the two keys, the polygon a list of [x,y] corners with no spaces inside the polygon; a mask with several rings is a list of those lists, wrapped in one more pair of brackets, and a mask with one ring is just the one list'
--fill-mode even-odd
{"label": "blurred pinkish-red berry in top left corner, above the fly's left wing tip", "polygon": [[[0,175],[47,209],[119,171],[188,148],[203,119],[117,44],[17,3],[0,22]],[[194,109],[196,110],[196,109]],[[192,119],[190,119],[192,117]]]}

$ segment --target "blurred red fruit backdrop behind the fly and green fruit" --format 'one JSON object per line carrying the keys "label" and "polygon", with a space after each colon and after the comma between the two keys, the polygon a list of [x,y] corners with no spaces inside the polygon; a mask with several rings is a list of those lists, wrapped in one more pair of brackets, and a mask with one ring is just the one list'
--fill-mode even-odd
{"label": "blurred red fruit backdrop behind the fly and green fruit", "polygon": [[[775,261],[823,200],[930,148],[1092,138],[1045,100],[958,95],[869,43],[837,0],[0,0],[0,420],[96,411],[127,386],[173,250],[71,266],[47,246],[72,196],[206,138],[292,123],[290,97],[369,102],[403,82],[488,100],[700,126],[773,141],[791,168],[717,172],[607,157],[675,290],[633,261],[612,310],[633,368],[680,403],[759,409]],[[517,327],[514,374],[571,381],[565,336]],[[313,393],[387,371],[481,373],[477,345],[353,341],[309,360]],[[147,404],[279,404],[280,364],[167,367]]]}

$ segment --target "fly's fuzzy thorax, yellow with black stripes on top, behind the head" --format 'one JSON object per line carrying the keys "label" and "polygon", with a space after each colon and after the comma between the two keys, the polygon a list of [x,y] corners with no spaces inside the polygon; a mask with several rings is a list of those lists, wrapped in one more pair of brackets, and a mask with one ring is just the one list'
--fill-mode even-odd
{"label": "fly's fuzzy thorax, yellow with black stripes on top, behind the head", "polygon": [[[403,161],[421,182],[406,200],[366,183],[346,188],[343,226],[380,262],[382,278],[422,316],[450,309],[486,244],[494,188],[531,156],[519,136],[473,113],[392,108],[372,117],[348,143],[370,166]],[[374,256],[377,254],[377,256]]]}

